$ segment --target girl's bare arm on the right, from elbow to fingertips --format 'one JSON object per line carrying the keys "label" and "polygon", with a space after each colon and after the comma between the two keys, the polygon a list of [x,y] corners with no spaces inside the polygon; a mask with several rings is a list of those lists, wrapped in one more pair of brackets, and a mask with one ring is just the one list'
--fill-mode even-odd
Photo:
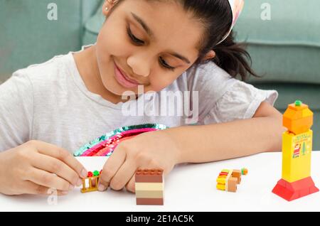
{"label": "girl's bare arm on the right, from elbow to fingertips", "polygon": [[282,114],[262,102],[252,119],[174,127],[139,134],[122,141],[100,176],[99,190],[109,186],[134,192],[137,168],[162,168],[169,173],[178,163],[202,163],[281,149]]}

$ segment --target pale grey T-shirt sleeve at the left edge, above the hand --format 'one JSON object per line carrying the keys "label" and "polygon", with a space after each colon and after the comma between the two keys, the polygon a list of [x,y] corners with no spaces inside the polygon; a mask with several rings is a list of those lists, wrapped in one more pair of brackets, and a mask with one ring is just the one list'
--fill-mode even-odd
{"label": "pale grey T-shirt sleeve at the left edge, above the hand", "polygon": [[33,86],[27,75],[15,72],[0,85],[0,152],[31,137]]}

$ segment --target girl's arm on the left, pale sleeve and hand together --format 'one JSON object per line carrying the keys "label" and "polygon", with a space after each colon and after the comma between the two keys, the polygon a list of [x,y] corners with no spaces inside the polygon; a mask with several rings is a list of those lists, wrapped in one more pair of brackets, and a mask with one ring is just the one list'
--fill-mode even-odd
{"label": "girl's arm on the left, pale sleeve and hand together", "polygon": [[85,168],[65,149],[28,141],[33,123],[33,85],[20,72],[0,85],[0,193],[67,194],[82,183],[80,177],[87,176]]}

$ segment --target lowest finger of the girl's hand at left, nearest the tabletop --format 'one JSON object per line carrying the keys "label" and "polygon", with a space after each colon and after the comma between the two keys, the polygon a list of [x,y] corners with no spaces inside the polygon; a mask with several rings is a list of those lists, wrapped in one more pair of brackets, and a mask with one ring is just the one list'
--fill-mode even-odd
{"label": "lowest finger of the girl's hand at left, nearest the tabletop", "polygon": [[68,191],[56,190],[55,188],[47,188],[42,185],[33,183],[32,181],[24,181],[23,193],[31,195],[67,195]]}

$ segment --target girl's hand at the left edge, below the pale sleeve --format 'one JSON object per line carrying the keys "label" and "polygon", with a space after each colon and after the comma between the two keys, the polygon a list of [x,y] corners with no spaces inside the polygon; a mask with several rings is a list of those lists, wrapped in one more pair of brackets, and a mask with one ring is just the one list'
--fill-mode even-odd
{"label": "girl's hand at the left edge, below the pale sleeve", "polygon": [[28,141],[0,153],[0,193],[6,195],[66,195],[87,176],[85,168],[65,149],[43,141]]}

